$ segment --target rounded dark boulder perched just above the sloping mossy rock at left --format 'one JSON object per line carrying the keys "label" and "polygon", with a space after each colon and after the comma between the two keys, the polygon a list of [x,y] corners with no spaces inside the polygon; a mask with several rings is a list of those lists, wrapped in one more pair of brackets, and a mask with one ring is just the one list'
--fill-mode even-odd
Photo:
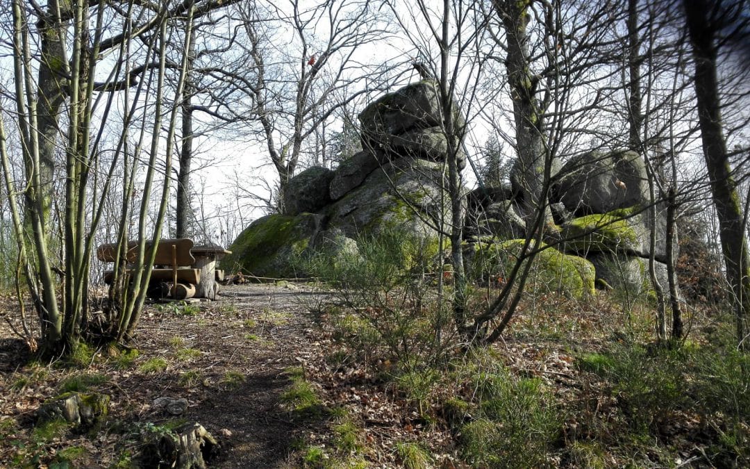
{"label": "rounded dark boulder perched just above the sloping mossy rock at left", "polygon": [[290,179],[284,192],[284,215],[314,213],[331,202],[329,185],[334,177],[332,170],[314,166]]}

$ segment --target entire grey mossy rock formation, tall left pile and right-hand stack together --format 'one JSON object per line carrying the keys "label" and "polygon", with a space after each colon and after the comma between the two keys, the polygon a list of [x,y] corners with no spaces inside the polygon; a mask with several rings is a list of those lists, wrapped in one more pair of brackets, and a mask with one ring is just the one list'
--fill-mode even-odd
{"label": "entire grey mossy rock formation, tall left pile and right-hand stack together", "polygon": [[[459,128],[465,125],[458,110],[455,118]],[[359,122],[362,152],[335,170],[311,167],[295,176],[284,194],[284,213],[245,229],[230,247],[234,254],[223,260],[225,269],[289,278],[308,273],[296,271],[299,254],[348,255],[363,234],[398,228],[437,237],[437,226],[450,219],[444,163],[449,146],[460,142],[450,142],[440,127],[434,81],[384,95],[362,110]],[[463,152],[458,163],[466,164]],[[466,266],[478,280],[502,278],[526,233],[528,214],[520,213],[523,191],[513,173],[507,187],[479,188],[466,197]],[[640,156],[584,153],[553,165],[553,175],[549,202],[557,239],[537,256],[529,285],[577,297],[591,293],[594,278],[639,291],[648,287],[649,233],[655,228],[655,257],[665,260],[665,217],[661,206],[655,217],[647,210]],[[660,275],[665,270],[658,266]]]}

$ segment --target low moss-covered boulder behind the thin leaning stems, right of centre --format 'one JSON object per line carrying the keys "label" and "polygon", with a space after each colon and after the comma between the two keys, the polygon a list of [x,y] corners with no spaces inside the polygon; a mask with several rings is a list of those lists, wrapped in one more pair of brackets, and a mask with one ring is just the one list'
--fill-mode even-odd
{"label": "low moss-covered boulder behind the thin leaning stems, right of centre", "polygon": [[[523,248],[523,239],[484,239],[475,245],[469,264],[471,275],[483,281],[506,277]],[[583,299],[594,294],[595,269],[583,257],[562,254],[541,243],[534,260],[530,277],[526,280],[529,293],[558,291],[566,296]],[[524,262],[527,262],[524,261]],[[522,266],[523,269],[523,266]]]}

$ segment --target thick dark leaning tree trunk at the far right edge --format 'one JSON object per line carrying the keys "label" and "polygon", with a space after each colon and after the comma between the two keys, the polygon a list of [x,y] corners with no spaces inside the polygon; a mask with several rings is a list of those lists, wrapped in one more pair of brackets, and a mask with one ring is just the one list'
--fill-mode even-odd
{"label": "thick dark leaning tree trunk at the far right edge", "polygon": [[685,7],[688,33],[693,46],[694,86],[700,137],[703,140],[703,157],[706,159],[713,203],[718,216],[727,281],[733,295],[737,340],[740,347],[748,349],[750,343],[745,340],[745,335],[748,334],[750,316],[750,257],[742,224],[742,207],[736,182],[731,175],[726,141],[721,128],[716,74],[717,26],[711,24],[714,5],[708,0],[683,0],[682,5]]}

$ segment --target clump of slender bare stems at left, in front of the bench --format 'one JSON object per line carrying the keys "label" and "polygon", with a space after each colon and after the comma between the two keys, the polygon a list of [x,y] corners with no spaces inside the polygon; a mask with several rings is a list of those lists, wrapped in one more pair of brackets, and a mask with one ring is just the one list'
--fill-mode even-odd
{"label": "clump of slender bare stems at left, in front of the bench", "polygon": [[[150,203],[154,172],[161,155],[162,116],[169,116],[167,141],[174,136],[176,119],[174,106],[171,110],[164,110],[164,75],[168,68],[180,72],[178,91],[185,76],[184,61],[176,64],[166,61],[169,41],[166,26],[175,17],[200,17],[221,4],[223,2],[207,0],[190,7],[184,2],[175,2],[151,9],[130,3],[121,9],[101,2],[48,2],[43,10],[34,2],[26,5],[20,0],[13,1],[10,12],[12,40],[4,47],[9,49],[7,55],[13,56],[12,94],[16,107],[1,112],[5,116],[12,115],[18,122],[16,130],[26,169],[25,178],[18,187],[10,179],[5,135],[0,135],[0,159],[13,212],[13,227],[23,256],[24,275],[37,311],[43,352],[73,350],[86,326],[89,266],[95,230],[101,220],[103,201],[109,194],[115,169],[120,164],[124,164],[129,178],[123,187],[132,191],[133,168],[142,145],[135,152],[128,152],[128,131],[131,124],[138,126],[133,116],[142,105],[140,100],[145,100],[154,106],[151,128],[147,130],[146,113],[141,113],[144,119],[139,125],[141,140],[146,134],[150,134],[151,139],[138,233],[139,265],[145,269],[136,269],[134,281],[128,284],[127,292],[120,297],[121,301],[110,318],[110,331],[115,338],[124,340],[132,334],[153,264],[153,256],[150,260],[144,259],[145,238],[149,233],[154,238],[159,237],[169,195],[167,168],[170,167],[171,149],[166,146],[161,165],[165,173],[159,212],[155,226],[147,230],[145,211]],[[104,56],[111,60],[102,61]],[[131,68],[130,63],[134,60],[139,65]],[[104,70],[109,66],[109,70]],[[105,77],[105,80],[98,82],[97,77]],[[99,158],[107,150],[102,146],[104,122],[113,115],[115,92],[131,87],[136,91],[132,101],[126,100],[126,106],[130,107],[125,112],[115,147],[110,149],[114,156],[101,174],[94,175],[92,170],[98,167]],[[122,155],[133,155],[134,158],[127,160],[121,158]],[[93,176],[104,179],[101,191],[96,194],[89,191]],[[53,240],[54,225],[49,223],[49,212],[52,185],[57,177],[62,180],[63,187],[62,194],[55,197],[61,207],[62,236]],[[23,212],[15,197],[22,190]],[[129,195],[127,191],[124,194]],[[126,226],[124,217],[129,212],[130,203],[132,200],[123,198],[121,227]],[[23,242],[27,236],[31,239],[28,245]],[[121,236],[127,236],[126,230],[121,230]],[[62,253],[60,265],[54,263],[55,245],[60,246]]]}

